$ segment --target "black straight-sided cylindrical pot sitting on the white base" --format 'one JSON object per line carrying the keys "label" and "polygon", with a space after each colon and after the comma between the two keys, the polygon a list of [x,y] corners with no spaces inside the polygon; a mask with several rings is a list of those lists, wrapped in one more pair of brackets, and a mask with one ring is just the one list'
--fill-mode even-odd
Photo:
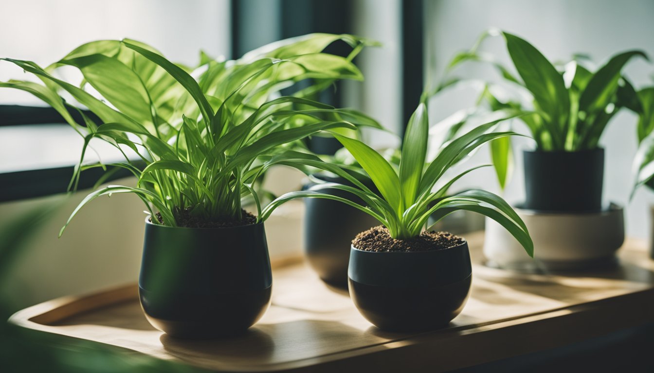
{"label": "black straight-sided cylindrical pot sitting on the white base", "polygon": [[604,149],[579,152],[525,150],[525,205],[529,210],[602,210]]}

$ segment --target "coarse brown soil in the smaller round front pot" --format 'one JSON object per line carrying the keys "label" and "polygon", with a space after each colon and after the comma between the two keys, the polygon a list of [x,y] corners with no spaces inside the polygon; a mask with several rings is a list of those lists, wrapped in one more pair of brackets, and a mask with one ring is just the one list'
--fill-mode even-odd
{"label": "coarse brown soil in the smaller round front pot", "polygon": [[352,244],[364,251],[429,251],[453,248],[466,242],[459,236],[447,232],[422,232],[416,238],[396,240],[388,234],[383,225],[368,229],[356,235]]}

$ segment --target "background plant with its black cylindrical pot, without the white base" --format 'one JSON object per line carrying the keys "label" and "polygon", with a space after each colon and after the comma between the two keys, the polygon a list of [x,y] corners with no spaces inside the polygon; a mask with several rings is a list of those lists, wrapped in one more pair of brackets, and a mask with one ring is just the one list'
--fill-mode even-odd
{"label": "background plant with its black cylindrical pot, without the white base", "polygon": [[[488,35],[501,35],[511,61],[509,69],[492,57],[477,52]],[[532,110],[520,120],[536,140],[536,150],[525,150],[525,204],[531,210],[551,212],[600,212],[604,182],[604,149],[599,140],[611,118],[627,104],[622,99],[628,83],[621,71],[633,57],[645,57],[639,50],[611,57],[602,67],[590,71],[579,59],[557,69],[532,44],[506,32],[485,33],[472,50],[459,54],[451,67],[463,61],[486,61],[498,68],[511,86],[532,96]],[[522,110],[518,102],[502,102],[485,91],[492,109]],[[509,152],[510,147],[505,147]]]}

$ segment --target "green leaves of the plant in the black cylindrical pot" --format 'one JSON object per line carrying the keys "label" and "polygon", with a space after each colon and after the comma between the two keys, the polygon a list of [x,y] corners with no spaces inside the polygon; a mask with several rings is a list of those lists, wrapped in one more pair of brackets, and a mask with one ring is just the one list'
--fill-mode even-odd
{"label": "green leaves of the plant in the black cylindrical pot", "polygon": [[[513,67],[518,76],[479,47],[489,36],[502,36]],[[525,115],[519,117],[536,140],[538,150],[576,152],[592,150],[598,142],[606,125],[617,112],[627,106],[621,99],[628,82],[623,79],[623,67],[634,57],[647,56],[640,50],[621,52],[611,57],[602,67],[592,72],[584,67],[582,56],[576,56],[564,64],[551,63],[532,44],[511,33],[492,29],[479,37],[470,50],[457,54],[449,63],[447,73],[436,89],[458,82],[452,78],[451,71],[466,61],[489,63],[495,67],[502,78],[519,88],[520,93],[528,93],[531,104],[521,101],[501,101],[492,93],[487,84],[480,95],[479,102],[485,102],[490,110],[516,110]],[[562,69],[557,69],[557,65]],[[496,140],[491,145],[492,158],[500,178],[506,181],[509,167],[511,144],[509,138]]]}

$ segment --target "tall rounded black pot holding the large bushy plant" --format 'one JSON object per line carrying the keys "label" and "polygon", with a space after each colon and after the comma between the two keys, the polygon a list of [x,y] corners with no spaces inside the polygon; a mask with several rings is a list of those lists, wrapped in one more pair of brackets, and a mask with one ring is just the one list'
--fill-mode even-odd
{"label": "tall rounded black pot holding the large bushy plant", "polygon": [[180,338],[243,332],[272,289],[264,224],[181,228],[146,221],[139,297],[153,327]]}

